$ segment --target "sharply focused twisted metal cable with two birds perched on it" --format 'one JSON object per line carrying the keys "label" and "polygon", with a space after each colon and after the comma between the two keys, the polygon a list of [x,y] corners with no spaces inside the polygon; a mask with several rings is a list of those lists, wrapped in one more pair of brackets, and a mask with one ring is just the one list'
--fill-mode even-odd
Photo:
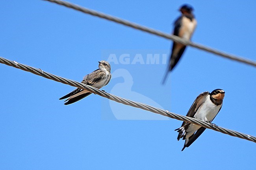
{"label": "sharply focused twisted metal cable with two birds perched on it", "polygon": [[195,118],[187,117],[187,116],[183,116],[183,115],[178,115],[176,113],[172,113],[172,112],[169,112],[169,111],[166,111],[166,110],[162,110],[160,108],[149,106],[147,104],[143,104],[143,103],[131,101],[131,100],[128,100],[128,99],[124,99],[122,97],[118,97],[118,96],[112,95],[110,93],[107,93],[106,91],[98,90],[97,88],[95,88],[93,86],[88,86],[86,84],[82,84],[82,83],[76,82],[74,80],[59,77],[57,75],[47,73],[47,72],[45,72],[41,69],[33,68],[31,66],[21,64],[21,63],[18,63],[16,61],[11,61],[11,60],[8,60],[6,58],[0,57],[0,63],[6,64],[8,66],[13,66],[15,68],[19,68],[19,69],[31,72],[31,73],[36,74],[36,75],[40,75],[40,76],[45,77],[47,79],[51,79],[51,80],[54,80],[54,81],[57,81],[57,82],[61,82],[63,84],[68,84],[70,86],[74,86],[74,87],[78,87],[78,88],[81,88],[81,89],[84,89],[84,90],[88,90],[88,91],[90,91],[92,93],[95,93],[97,95],[100,95],[102,97],[106,97],[106,98],[108,98],[112,101],[116,101],[116,102],[119,102],[119,103],[122,103],[122,104],[125,104],[125,105],[136,107],[136,108],[141,108],[141,109],[147,110],[149,112],[158,113],[160,115],[171,117],[171,118],[177,119],[179,121],[185,121],[185,122],[197,124],[197,125],[203,126],[205,128],[209,128],[209,129],[212,129],[212,130],[224,133],[224,134],[239,137],[239,138],[246,139],[246,140],[249,140],[249,141],[253,141],[253,142],[256,143],[256,137],[254,137],[252,135],[247,135],[245,133],[236,132],[234,130],[229,130],[229,129],[226,129],[226,128],[222,128],[220,126],[217,126],[217,125],[205,122],[205,121],[201,121],[199,119],[195,119]]}

